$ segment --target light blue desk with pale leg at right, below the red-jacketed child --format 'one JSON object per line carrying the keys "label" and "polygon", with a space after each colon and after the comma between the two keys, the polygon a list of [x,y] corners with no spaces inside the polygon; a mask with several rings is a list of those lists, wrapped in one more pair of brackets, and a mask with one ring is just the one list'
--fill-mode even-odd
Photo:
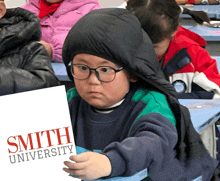
{"label": "light blue desk with pale leg at right, below the red-jacketed child", "polygon": [[220,99],[180,99],[191,115],[193,127],[200,134],[201,139],[212,157],[216,157],[215,123],[220,120]]}

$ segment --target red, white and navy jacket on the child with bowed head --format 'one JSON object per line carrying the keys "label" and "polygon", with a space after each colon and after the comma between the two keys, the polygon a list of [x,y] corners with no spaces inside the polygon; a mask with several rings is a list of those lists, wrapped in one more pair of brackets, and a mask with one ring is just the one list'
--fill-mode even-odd
{"label": "red, white and navy jacket on the child with bowed head", "polygon": [[205,40],[179,27],[164,55],[163,69],[182,99],[219,99],[220,74],[216,60],[204,49]]}

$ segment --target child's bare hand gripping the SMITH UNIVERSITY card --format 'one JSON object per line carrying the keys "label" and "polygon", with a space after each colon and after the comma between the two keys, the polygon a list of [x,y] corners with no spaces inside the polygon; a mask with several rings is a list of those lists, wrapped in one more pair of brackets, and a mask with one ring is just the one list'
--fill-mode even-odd
{"label": "child's bare hand gripping the SMITH UNIVERSITY card", "polygon": [[76,163],[65,161],[64,164],[68,168],[63,168],[63,170],[73,175],[73,177],[82,180],[93,180],[111,174],[110,160],[100,153],[85,152],[70,156],[70,160]]}

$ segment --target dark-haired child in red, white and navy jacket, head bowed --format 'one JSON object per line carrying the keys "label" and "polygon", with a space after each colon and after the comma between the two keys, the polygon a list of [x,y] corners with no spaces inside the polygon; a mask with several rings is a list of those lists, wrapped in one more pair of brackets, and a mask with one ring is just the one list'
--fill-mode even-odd
{"label": "dark-haired child in red, white and navy jacket, head bowed", "polygon": [[178,98],[220,98],[216,60],[204,49],[202,37],[179,27],[180,8],[175,0],[129,0],[127,9],[141,21]]}

